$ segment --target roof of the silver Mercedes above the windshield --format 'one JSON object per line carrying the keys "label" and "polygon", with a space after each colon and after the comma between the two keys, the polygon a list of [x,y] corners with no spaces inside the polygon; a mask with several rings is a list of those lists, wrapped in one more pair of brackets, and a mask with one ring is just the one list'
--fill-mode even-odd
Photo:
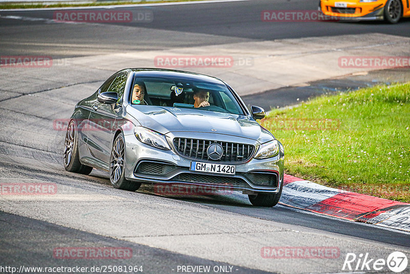
{"label": "roof of the silver Mercedes above the windshield", "polygon": [[125,70],[135,72],[137,77],[168,77],[225,85],[225,83],[223,83],[222,80],[216,77],[190,71],[157,68],[131,68]]}

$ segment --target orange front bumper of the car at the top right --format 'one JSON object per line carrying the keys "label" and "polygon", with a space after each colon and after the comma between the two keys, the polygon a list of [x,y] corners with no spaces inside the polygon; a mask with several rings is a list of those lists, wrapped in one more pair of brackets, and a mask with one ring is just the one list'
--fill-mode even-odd
{"label": "orange front bumper of the car at the top right", "polygon": [[320,1],[318,10],[325,16],[343,21],[377,21],[383,20],[385,0],[372,3],[347,3],[345,8],[335,7],[339,1]]}

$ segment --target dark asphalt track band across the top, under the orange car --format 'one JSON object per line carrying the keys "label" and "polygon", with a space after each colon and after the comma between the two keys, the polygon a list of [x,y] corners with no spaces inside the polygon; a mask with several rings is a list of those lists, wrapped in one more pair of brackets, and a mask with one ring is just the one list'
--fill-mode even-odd
{"label": "dark asphalt track band across the top, under the orange car", "polygon": [[[316,0],[241,1],[116,9],[133,12],[148,10],[153,13],[154,19],[150,23],[112,23],[106,24],[104,28],[84,24],[73,28],[70,24],[52,24],[55,10],[1,11],[0,52],[3,55],[48,54],[57,58],[129,50],[342,34],[384,33],[410,36],[409,18],[402,19],[398,25],[388,25],[383,22],[267,23],[261,21],[263,10],[317,10]],[[16,20],[4,17],[10,15],[27,18]],[[37,21],[36,18],[45,18],[49,21]],[[112,25],[124,25],[134,29],[118,32],[118,29],[108,27]],[[163,31],[176,33],[174,35]],[[198,34],[207,34],[207,36]]]}

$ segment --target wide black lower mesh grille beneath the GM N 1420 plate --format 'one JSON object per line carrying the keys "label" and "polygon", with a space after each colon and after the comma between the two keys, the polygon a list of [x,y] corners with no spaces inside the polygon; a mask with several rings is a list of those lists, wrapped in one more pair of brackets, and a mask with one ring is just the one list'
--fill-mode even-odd
{"label": "wide black lower mesh grille beneath the GM N 1420 plate", "polygon": [[173,178],[173,180],[190,183],[202,183],[212,185],[224,185],[224,186],[239,186],[249,187],[249,185],[241,178],[226,177],[219,175],[204,175],[195,173],[181,173]]}

